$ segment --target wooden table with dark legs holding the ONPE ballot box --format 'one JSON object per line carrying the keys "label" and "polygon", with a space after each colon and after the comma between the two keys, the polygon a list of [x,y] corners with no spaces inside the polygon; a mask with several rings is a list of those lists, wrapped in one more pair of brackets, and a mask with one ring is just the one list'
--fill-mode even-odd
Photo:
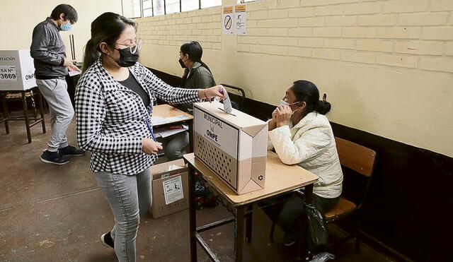
{"label": "wooden table with dark legs holding the ONPE ballot box", "polygon": [[[234,257],[235,261],[242,261],[243,258],[243,239],[244,239],[244,216],[246,208],[257,201],[288,193],[296,189],[305,187],[304,198],[306,203],[311,203],[313,193],[313,184],[318,181],[318,176],[306,171],[298,165],[285,165],[280,161],[277,154],[268,151],[266,160],[266,181],[265,188],[237,195],[222,179],[217,177],[209,167],[204,165],[200,160],[195,158],[193,153],[183,156],[184,161],[189,167],[189,210],[190,210],[190,261],[197,261],[197,242],[202,246],[212,261],[219,261],[214,252],[211,251],[207,243],[202,239],[200,233],[211,230],[214,227],[234,222]],[[219,193],[219,197],[224,198],[233,206],[234,218],[219,220],[208,225],[196,227],[195,212],[195,172],[202,179],[209,182],[212,189]],[[249,211],[251,214],[251,210]],[[251,239],[251,215],[247,215],[247,237]],[[249,227],[250,226],[250,227]]]}

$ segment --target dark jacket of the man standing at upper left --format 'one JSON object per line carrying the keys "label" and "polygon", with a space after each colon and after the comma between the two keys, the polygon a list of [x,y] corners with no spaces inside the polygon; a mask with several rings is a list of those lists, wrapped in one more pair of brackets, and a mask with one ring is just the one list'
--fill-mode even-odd
{"label": "dark jacket of the man standing at upper left", "polygon": [[34,59],[36,79],[62,78],[68,74],[63,66],[66,58],[66,47],[59,28],[47,18],[33,29],[30,55]]}

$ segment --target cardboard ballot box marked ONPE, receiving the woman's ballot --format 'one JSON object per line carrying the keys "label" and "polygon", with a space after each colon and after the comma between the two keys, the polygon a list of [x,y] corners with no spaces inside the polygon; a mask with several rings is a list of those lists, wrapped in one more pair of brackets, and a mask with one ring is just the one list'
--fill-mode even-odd
{"label": "cardboard ballot box marked ONPE, receiving the woman's ballot", "polygon": [[219,102],[194,104],[195,157],[236,193],[264,188],[268,124]]}

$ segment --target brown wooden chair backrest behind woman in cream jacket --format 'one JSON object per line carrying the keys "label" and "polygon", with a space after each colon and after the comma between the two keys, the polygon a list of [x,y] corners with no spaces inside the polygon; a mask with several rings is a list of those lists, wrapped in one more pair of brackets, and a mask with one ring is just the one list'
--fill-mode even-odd
{"label": "brown wooden chair backrest behind woman in cream jacket", "polygon": [[367,177],[372,176],[374,163],[376,162],[376,152],[374,150],[342,138],[336,137],[335,142],[341,165]]}

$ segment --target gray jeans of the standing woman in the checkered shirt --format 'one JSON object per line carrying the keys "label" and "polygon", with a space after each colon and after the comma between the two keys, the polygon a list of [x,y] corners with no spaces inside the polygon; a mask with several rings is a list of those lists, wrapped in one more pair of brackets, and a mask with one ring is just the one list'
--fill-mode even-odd
{"label": "gray jeans of the standing woman in the checkered shirt", "polygon": [[118,261],[135,261],[135,238],[139,217],[149,215],[151,208],[151,168],[127,176],[95,172],[98,186],[113,211],[115,225],[111,230]]}

